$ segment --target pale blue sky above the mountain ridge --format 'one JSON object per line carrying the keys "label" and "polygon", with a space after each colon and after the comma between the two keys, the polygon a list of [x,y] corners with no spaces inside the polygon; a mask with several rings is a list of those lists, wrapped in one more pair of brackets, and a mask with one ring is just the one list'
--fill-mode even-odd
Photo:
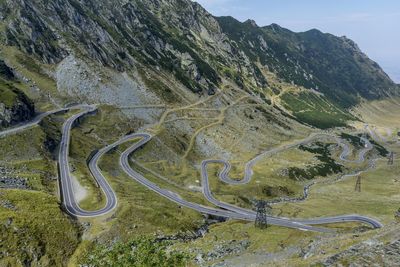
{"label": "pale blue sky above the mountain ridge", "polygon": [[399,0],[196,0],[215,16],[277,23],[292,31],[319,29],[354,40],[400,83]]}

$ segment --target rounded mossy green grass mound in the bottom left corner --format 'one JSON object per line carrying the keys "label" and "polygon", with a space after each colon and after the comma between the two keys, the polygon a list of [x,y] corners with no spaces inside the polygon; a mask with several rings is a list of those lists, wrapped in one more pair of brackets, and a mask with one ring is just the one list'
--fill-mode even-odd
{"label": "rounded mossy green grass mound in the bottom left corner", "polygon": [[79,242],[79,229],[57,199],[38,191],[0,190],[0,265],[62,266]]}

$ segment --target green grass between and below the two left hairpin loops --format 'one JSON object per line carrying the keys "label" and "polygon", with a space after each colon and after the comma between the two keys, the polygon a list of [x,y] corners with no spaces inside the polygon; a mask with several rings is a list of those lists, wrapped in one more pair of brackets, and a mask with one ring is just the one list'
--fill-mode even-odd
{"label": "green grass between and below the two left hairpin loops", "polygon": [[[102,106],[96,115],[85,117],[83,122],[73,129],[70,155],[73,165],[76,167],[75,175],[81,184],[91,191],[87,199],[80,203],[82,207],[94,209],[103,204],[97,202],[97,196],[100,194],[102,197],[102,194],[95,187],[95,182],[86,166],[86,159],[90,152],[102,148],[105,144],[111,144],[126,133],[134,131],[133,129],[138,127],[137,123],[139,122],[127,120],[114,108]],[[127,145],[122,145],[118,150],[123,151]],[[197,212],[181,209],[175,203],[160,197],[127,177],[120,169],[117,151],[104,155],[99,166],[118,197],[118,208],[113,219],[110,219],[105,225],[101,219],[100,221],[95,220],[97,226],[103,225],[109,230],[107,236],[128,241],[127,239],[135,238],[140,233],[149,234],[157,230],[176,233],[181,230],[194,229],[201,223],[201,216]],[[133,167],[141,171],[137,166],[133,165]],[[185,191],[176,190],[145,171],[144,175],[163,188],[185,194]],[[189,199],[194,197],[189,193],[186,196]],[[134,228],[135,225],[137,229]],[[102,227],[100,227],[102,230],[96,227],[93,229],[93,235],[99,234],[97,229],[104,232]]]}

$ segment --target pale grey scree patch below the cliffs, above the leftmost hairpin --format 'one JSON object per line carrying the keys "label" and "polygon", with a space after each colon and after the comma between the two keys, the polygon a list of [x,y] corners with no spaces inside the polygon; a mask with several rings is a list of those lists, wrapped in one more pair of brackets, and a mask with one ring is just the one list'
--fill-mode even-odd
{"label": "pale grey scree patch below the cliffs, above the leftmost hairpin", "polygon": [[[161,100],[141,84],[138,76],[128,75],[101,66],[89,66],[83,60],[70,55],[57,67],[57,89],[70,97],[95,104],[117,107],[161,104]],[[159,110],[124,109],[125,115],[152,122]]]}

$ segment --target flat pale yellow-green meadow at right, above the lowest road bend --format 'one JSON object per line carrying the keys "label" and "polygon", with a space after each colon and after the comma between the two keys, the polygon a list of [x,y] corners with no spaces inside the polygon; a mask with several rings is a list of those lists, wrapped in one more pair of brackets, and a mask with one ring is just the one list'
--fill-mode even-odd
{"label": "flat pale yellow-green meadow at right, above the lowest road bend", "polygon": [[[279,205],[286,216],[319,217],[357,213],[388,223],[394,220],[398,209],[397,171],[380,161],[376,169],[361,175],[361,193],[354,191],[356,177],[333,184],[313,187],[309,199],[302,203]],[[351,205],[350,205],[351,204]]]}

